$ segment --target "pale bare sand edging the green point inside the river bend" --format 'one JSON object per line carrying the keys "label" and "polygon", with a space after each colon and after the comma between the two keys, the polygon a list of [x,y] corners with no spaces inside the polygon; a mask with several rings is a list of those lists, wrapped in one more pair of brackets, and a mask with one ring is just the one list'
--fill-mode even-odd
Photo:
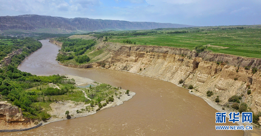
{"label": "pale bare sand edging the green point inside the river bend", "polygon": [[[38,75],[38,76],[48,76],[48,75]],[[85,86],[85,85],[98,85],[97,82],[94,80],[91,80],[89,78],[83,78],[79,76],[72,76],[67,74],[61,74],[61,76],[66,76],[70,79],[75,80],[75,84],[77,86]],[[116,96],[114,96],[114,101],[109,102],[106,106],[101,108],[101,110],[114,107],[120,104],[123,104],[124,101],[128,101],[131,99],[136,93],[135,92],[129,92],[129,95],[125,94],[126,90],[119,89],[119,92],[122,92],[120,99],[118,99]],[[83,90],[84,93],[84,90]],[[85,95],[85,97],[88,99],[88,97]],[[101,101],[101,103],[105,103],[105,101]],[[52,108],[51,111],[48,111],[48,114],[50,114],[52,117],[47,120],[47,122],[43,122],[43,125],[49,124],[51,122],[56,121],[62,121],[66,120],[66,114],[65,112],[68,110],[71,116],[71,119],[77,118],[77,117],[85,117],[88,115],[95,114],[99,111],[96,111],[98,109],[98,105],[95,105],[94,107],[90,107],[90,104],[85,104],[85,102],[75,102],[75,101],[57,101],[50,104],[50,107]],[[86,107],[88,107],[88,110],[86,110]],[[82,110],[83,109],[83,110]],[[77,113],[77,110],[80,111]]]}

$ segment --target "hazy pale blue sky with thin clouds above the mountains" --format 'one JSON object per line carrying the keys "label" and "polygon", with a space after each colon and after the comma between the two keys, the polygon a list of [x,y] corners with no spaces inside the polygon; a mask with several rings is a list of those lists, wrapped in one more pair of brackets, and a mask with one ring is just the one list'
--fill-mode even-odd
{"label": "hazy pale blue sky with thin clouds above the mountains", "polygon": [[87,17],[195,26],[261,24],[261,0],[0,0],[0,16]]}

